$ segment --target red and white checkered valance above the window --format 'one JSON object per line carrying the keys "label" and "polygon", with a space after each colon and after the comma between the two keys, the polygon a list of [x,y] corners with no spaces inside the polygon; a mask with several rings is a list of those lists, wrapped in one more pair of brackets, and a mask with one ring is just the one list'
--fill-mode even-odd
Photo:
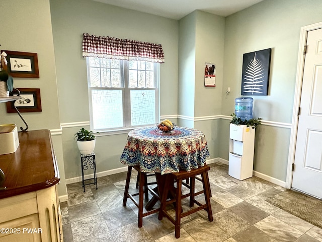
{"label": "red and white checkered valance above the window", "polygon": [[162,45],[128,39],[83,34],[83,57],[165,62]]}

